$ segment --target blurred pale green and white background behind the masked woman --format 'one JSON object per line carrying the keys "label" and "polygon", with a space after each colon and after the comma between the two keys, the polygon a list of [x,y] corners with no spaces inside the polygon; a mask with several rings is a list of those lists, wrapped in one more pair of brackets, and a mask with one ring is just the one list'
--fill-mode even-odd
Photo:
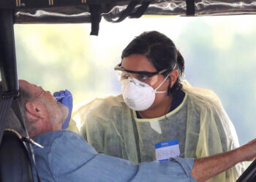
{"label": "blurred pale green and white background behind the masked woman", "polygon": [[75,108],[121,93],[113,71],[121,52],[143,31],[172,39],[185,59],[185,79],[214,90],[241,144],[256,137],[256,16],[143,17],[122,23],[15,25],[18,78],[50,92],[70,90]]}

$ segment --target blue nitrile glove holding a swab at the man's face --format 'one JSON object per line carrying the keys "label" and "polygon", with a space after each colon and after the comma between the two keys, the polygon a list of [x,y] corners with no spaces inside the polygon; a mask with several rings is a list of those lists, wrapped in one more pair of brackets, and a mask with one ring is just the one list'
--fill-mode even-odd
{"label": "blue nitrile glove holding a swab at the man's face", "polygon": [[67,108],[69,108],[69,115],[61,126],[61,129],[64,130],[69,126],[73,106],[72,94],[71,92],[69,92],[69,90],[61,90],[59,92],[54,92],[53,97],[55,97],[59,103],[62,103],[64,106],[67,106]]}

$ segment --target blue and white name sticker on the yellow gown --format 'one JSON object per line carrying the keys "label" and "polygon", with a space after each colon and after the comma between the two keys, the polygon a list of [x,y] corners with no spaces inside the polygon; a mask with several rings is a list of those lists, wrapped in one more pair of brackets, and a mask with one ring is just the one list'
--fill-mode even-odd
{"label": "blue and white name sticker on the yellow gown", "polygon": [[170,157],[178,157],[181,154],[178,140],[157,143],[155,149],[158,161],[167,161]]}

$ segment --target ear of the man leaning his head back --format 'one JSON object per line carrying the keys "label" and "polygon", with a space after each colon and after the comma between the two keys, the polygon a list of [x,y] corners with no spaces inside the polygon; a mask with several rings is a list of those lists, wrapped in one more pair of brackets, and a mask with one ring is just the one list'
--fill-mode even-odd
{"label": "ear of the man leaning his head back", "polygon": [[44,106],[42,103],[39,103],[37,101],[29,101],[26,102],[25,106],[28,116],[34,119],[40,119],[45,117],[45,109],[43,108]]}

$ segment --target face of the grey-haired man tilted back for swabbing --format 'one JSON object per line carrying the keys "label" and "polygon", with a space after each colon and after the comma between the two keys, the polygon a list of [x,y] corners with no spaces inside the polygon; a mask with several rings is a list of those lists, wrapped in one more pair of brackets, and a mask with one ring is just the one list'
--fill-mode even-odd
{"label": "face of the grey-haired man tilted back for swabbing", "polygon": [[57,102],[49,91],[45,91],[42,87],[31,84],[26,80],[19,80],[19,85],[20,88],[31,93],[34,100],[38,100],[45,105],[50,122],[60,122],[61,124],[64,122],[67,118],[68,108]]}

